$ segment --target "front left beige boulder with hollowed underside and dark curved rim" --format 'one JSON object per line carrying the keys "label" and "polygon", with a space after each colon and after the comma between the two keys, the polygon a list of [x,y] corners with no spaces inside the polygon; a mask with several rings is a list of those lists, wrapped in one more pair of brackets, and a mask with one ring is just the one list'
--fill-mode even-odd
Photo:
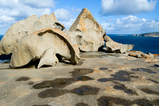
{"label": "front left beige boulder with hollowed underside and dark curved rim", "polygon": [[77,64],[79,52],[76,50],[61,30],[47,28],[31,33],[16,43],[10,66],[22,67],[35,60],[40,60],[37,68],[54,66],[58,63],[56,55]]}

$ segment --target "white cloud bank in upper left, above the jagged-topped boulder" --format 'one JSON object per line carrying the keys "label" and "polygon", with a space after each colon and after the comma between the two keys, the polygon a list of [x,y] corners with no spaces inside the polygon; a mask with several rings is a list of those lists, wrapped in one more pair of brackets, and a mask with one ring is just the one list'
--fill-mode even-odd
{"label": "white cloud bank in upper left, above the jagged-topped boulder", "polygon": [[3,28],[0,34],[4,34],[16,21],[26,19],[33,14],[38,17],[51,14],[53,7],[55,7],[54,0],[0,0],[0,29]]}

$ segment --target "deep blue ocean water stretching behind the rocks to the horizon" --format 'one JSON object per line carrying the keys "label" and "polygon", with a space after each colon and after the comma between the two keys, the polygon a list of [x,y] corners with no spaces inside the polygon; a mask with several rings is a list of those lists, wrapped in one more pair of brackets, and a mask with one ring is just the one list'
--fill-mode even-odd
{"label": "deep blue ocean water stretching behind the rocks to the horizon", "polygon": [[[144,53],[159,54],[159,37],[139,37],[130,35],[107,34],[114,41],[123,44],[134,44],[133,50]],[[0,40],[3,35],[0,35]],[[7,60],[0,60],[0,63]]]}

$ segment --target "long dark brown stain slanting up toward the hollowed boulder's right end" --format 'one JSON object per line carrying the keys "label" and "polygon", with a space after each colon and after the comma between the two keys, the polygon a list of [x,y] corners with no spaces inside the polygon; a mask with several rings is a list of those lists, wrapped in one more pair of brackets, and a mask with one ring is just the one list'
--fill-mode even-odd
{"label": "long dark brown stain slanting up toward the hollowed boulder's right end", "polygon": [[55,80],[43,81],[33,86],[34,89],[42,89],[42,88],[64,88],[67,85],[70,85],[76,81],[88,81],[93,80],[93,78],[83,76],[89,73],[92,73],[94,70],[92,69],[84,69],[77,68],[74,71],[70,72],[72,78],[57,78]]}

